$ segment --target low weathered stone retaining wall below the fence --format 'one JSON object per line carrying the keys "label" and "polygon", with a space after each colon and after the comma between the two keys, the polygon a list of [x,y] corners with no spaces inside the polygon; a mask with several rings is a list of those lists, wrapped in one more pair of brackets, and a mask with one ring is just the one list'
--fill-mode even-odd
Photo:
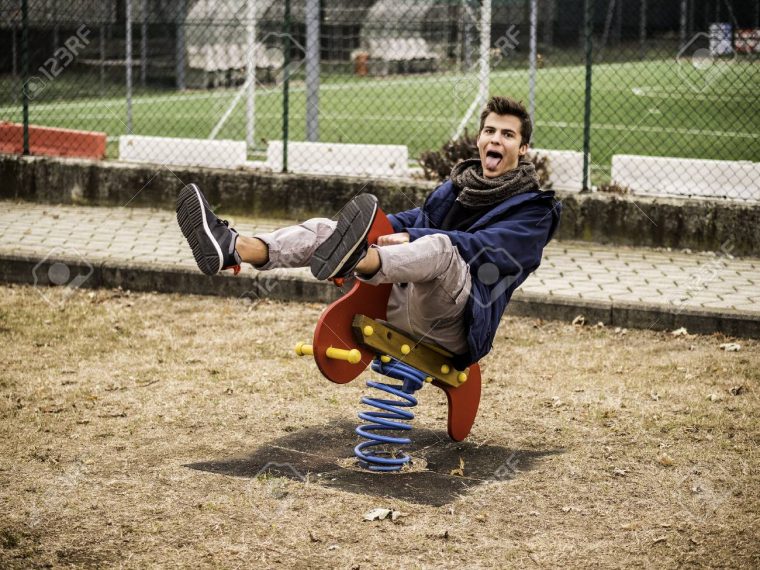
{"label": "low weathered stone retaining wall below the fence", "polygon": [[[225,213],[301,219],[331,216],[359,192],[388,212],[419,206],[435,187],[426,181],[364,180],[251,170],[168,168],[119,162],[0,155],[0,199],[51,204],[174,208],[195,182]],[[689,248],[760,257],[760,205],[559,192],[558,238]]]}

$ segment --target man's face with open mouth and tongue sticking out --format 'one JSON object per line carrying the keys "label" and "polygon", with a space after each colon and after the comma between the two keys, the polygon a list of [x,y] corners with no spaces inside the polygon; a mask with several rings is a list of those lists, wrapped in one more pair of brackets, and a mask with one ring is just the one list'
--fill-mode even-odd
{"label": "man's face with open mouth and tongue sticking out", "polygon": [[522,144],[520,119],[513,115],[491,113],[478,135],[478,154],[486,178],[495,178],[517,167],[520,157],[528,152]]}

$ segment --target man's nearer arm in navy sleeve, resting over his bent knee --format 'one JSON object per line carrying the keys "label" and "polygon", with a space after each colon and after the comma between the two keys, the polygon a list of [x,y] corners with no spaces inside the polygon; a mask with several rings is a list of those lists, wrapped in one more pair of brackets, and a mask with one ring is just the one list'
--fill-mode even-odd
{"label": "man's nearer arm in navy sleeve, resting over his bent knee", "polygon": [[551,226],[551,210],[536,205],[473,233],[435,228],[407,228],[405,231],[411,241],[430,234],[449,236],[474,274],[479,267],[490,263],[498,268],[500,275],[518,275],[538,267]]}

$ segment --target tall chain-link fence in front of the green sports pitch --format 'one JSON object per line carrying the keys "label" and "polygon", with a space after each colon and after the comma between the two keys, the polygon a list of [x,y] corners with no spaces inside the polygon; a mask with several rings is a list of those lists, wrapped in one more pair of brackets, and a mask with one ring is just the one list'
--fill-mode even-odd
{"label": "tall chain-link fence in front of the green sports pitch", "polygon": [[0,152],[419,176],[503,94],[529,106],[555,188],[760,200],[756,0],[0,0],[0,16]]}

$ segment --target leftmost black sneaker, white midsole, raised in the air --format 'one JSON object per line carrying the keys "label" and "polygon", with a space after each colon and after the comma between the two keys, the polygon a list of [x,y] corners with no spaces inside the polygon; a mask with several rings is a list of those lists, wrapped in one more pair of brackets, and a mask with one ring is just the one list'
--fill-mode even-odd
{"label": "leftmost black sneaker, white midsole, raised in the air", "polygon": [[188,184],[177,196],[177,223],[203,273],[216,275],[222,269],[234,269],[236,274],[240,271],[240,256],[235,251],[237,232],[229,227],[227,220],[214,215],[195,184]]}

